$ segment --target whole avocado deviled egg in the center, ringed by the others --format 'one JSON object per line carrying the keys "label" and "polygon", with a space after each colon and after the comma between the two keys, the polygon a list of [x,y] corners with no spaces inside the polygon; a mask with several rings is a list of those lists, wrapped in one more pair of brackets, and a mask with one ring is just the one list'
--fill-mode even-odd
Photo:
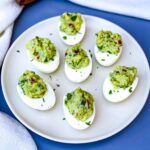
{"label": "whole avocado deviled egg in the center, ringed by the others", "polygon": [[80,44],[67,49],[65,74],[70,81],[80,83],[89,77],[91,71],[92,59],[88,51],[82,49]]}

